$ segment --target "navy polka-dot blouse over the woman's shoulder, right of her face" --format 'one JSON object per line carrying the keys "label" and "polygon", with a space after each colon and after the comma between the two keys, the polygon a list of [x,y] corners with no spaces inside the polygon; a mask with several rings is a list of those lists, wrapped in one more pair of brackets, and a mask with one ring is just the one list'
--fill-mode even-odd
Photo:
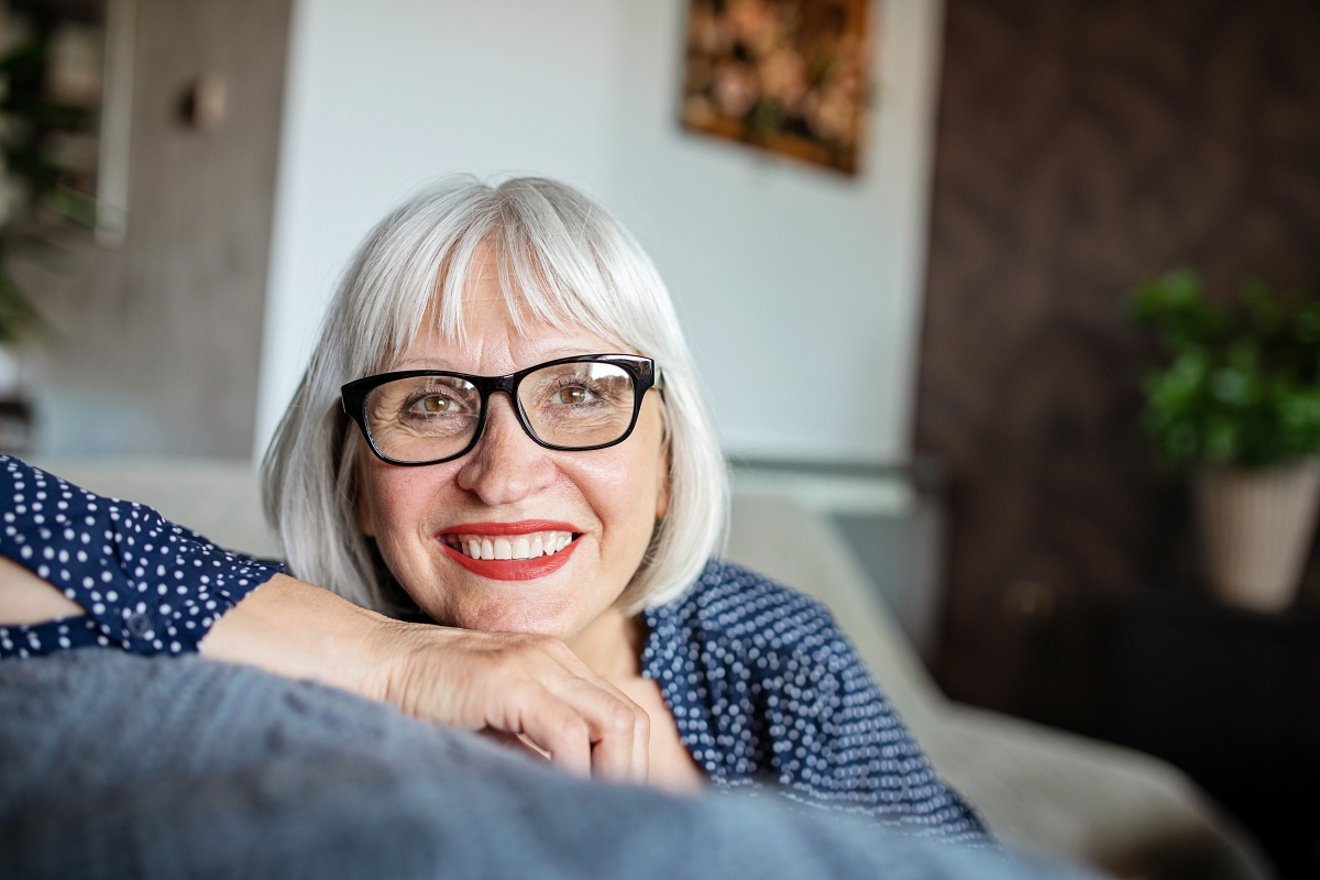
{"label": "navy polka-dot blouse over the woman's shoulder, right of her face", "polygon": [[991,843],[818,603],[710,562],[688,592],[645,616],[644,674],[717,786],[768,784],[804,803]]}

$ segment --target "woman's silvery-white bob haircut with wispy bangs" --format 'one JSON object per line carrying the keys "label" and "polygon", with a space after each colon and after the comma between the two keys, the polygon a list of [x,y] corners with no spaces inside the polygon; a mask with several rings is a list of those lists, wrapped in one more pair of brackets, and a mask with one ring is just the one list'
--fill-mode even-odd
{"label": "woman's silvery-white bob haircut with wispy bangs", "polygon": [[399,363],[433,305],[442,336],[462,344],[463,292],[487,248],[520,332],[585,329],[619,351],[655,359],[669,507],[622,603],[635,613],[678,596],[718,550],[729,511],[725,463],[692,356],[636,239],[581,193],[543,178],[496,187],[445,178],[367,236],[261,466],[267,517],[289,573],[359,606],[400,612],[392,577],[358,525],[363,441],[341,408],[339,387]]}

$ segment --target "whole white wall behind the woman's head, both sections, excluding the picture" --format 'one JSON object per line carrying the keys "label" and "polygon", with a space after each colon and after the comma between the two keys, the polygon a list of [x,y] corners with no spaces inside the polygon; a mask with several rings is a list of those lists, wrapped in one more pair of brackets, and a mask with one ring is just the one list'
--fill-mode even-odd
{"label": "whole white wall behind the woman's head, both sections, excluding the picture", "polygon": [[624,219],[675,294],[729,451],[907,456],[939,0],[882,4],[884,84],[851,179],[678,131],[684,5],[297,3],[259,454],[356,241],[466,170],[560,177]]}

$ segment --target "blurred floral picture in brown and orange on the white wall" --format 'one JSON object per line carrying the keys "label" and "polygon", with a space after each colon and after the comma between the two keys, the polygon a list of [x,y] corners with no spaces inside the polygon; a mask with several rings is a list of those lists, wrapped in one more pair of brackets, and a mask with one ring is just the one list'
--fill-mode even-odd
{"label": "blurred floral picture in brown and orange on the white wall", "polygon": [[857,173],[869,0],[690,0],[684,128]]}

